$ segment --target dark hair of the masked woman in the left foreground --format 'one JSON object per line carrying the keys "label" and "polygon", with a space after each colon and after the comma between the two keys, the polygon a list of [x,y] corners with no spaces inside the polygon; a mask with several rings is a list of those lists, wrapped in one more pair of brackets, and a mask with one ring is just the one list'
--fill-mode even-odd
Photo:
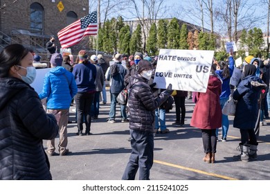
{"label": "dark hair of the masked woman in the left foreground", "polygon": [[8,77],[10,68],[21,65],[21,60],[30,52],[29,48],[21,44],[10,44],[0,53],[0,78]]}

